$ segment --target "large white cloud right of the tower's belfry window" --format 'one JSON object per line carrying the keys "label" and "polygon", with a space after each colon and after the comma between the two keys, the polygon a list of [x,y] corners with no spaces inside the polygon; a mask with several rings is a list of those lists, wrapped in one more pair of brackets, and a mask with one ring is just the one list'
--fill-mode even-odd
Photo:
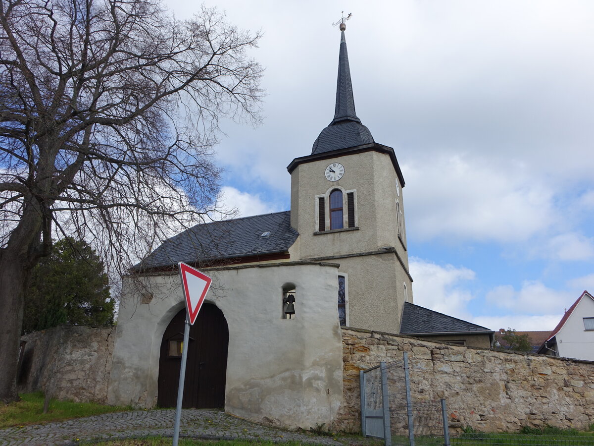
{"label": "large white cloud right of the tower's belfry window", "polygon": [[551,188],[522,165],[444,155],[405,171],[407,228],[421,240],[524,241],[555,222]]}

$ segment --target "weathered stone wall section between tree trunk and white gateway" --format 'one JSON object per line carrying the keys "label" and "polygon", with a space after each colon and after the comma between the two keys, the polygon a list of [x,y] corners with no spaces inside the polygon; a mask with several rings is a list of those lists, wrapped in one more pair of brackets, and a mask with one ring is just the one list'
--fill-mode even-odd
{"label": "weathered stone wall section between tree trunk and white gateway", "polygon": [[52,398],[105,404],[115,326],[60,325],[21,337],[26,341],[18,392],[48,392]]}

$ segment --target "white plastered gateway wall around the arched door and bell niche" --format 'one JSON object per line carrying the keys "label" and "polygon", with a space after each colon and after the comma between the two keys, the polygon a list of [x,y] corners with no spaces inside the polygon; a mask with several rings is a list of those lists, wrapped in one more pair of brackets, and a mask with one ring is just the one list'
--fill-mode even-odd
{"label": "white plastered gateway wall around the arched door and bell niche", "polygon": [[[287,262],[204,270],[207,300],[229,326],[226,412],[289,427],[329,425],[342,403],[336,264]],[[147,278],[145,278],[147,280]],[[178,275],[151,277],[152,299],[134,291],[119,313],[108,401],[154,407],[160,344],[183,308]],[[282,319],[282,287],[295,284],[295,319]]]}

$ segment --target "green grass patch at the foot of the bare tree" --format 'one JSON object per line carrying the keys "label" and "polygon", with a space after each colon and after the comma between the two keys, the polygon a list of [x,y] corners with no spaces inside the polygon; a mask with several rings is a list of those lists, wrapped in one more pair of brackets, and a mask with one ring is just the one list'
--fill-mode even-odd
{"label": "green grass patch at the foot of the bare tree", "polygon": [[42,392],[21,394],[19,396],[21,401],[5,406],[0,405],[0,429],[131,410],[130,407],[103,406],[96,403],[72,403],[72,401],[52,399],[49,403],[48,413],[43,413]]}

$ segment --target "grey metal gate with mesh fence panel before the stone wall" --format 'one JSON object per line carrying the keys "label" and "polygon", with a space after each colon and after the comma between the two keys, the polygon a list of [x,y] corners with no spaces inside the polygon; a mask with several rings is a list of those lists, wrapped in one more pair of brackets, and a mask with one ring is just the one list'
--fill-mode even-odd
{"label": "grey metal gate with mesh fence panel before the stone wall", "polygon": [[402,360],[363,370],[360,378],[364,436],[383,438],[386,446],[449,445],[445,400],[413,401],[410,397],[406,351]]}

